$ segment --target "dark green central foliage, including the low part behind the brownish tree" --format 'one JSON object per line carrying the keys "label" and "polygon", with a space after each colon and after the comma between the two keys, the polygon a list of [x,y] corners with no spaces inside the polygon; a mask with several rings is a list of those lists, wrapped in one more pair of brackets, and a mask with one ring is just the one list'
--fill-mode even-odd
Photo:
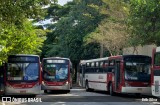
{"label": "dark green central foliage, including the low part behind the brownish tree", "polygon": [[79,63],[81,59],[97,58],[99,45],[85,45],[83,38],[95,30],[105,17],[106,14],[100,12],[104,5],[101,0],[73,0],[61,9],[56,9],[57,14],[63,14],[56,14],[60,17],[52,27],[54,31],[47,35],[42,56],[68,57],[73,63]]}

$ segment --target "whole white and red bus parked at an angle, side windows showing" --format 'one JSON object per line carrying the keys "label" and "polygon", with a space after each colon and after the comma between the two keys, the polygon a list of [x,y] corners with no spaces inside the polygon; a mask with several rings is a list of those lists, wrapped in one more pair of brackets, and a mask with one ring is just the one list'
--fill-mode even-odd
{"label": "whole white and red bus parked at an angle, side windows showing", "polygon": [[[81,61],[81,78],[89,90],[114,93],[151,94],[151,57],[144,55],[119,55]],[[83,74],[82,74],[83,73]],[[81,81],[81,83],[83,83]]]}

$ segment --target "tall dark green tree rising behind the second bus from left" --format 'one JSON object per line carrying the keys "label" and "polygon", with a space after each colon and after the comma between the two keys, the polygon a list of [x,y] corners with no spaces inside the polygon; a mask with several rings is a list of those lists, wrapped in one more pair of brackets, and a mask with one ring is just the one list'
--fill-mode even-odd
{"label": "tall dark green tree rising behind the second bus from left", "polygon": [[[69,12],[65,12],[69,14],[63,15],[60,20],[54,24],[52,42],[49,42],[51,44],[48,43],[48,45],[54,43],[53,41],[55,40],[53,38],[57,38],[58,42],[56,45],[54,43],[48,52],[51,54],[49,56],[53,56],[53,54],[59,50],[57,56],[69,57],[73,62],[78,63],[80,59],[83,59],[82,55],[84,54],[82,53],[83,50],[85,50],[83,49],[85,48],[85,45],[83,45],[83,37],[92,32],[98,26],[101,19],[104,18],[104,14],[100,13],[100,9],[104,4],[102,1],[97,0],[75,0],[73,3],[69,3],[69,6],[71,5],[72,7],[67,9]],[[65,5],[65,8],[67,8],[67,5]],[[57,48],[57,50],[55,48]]]}

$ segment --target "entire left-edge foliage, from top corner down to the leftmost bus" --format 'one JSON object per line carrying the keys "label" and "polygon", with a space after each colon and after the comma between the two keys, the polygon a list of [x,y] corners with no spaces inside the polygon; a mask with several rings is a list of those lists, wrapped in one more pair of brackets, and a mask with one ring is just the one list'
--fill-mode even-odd
{"label": "entire left-edge foliage, from top corner down to the leftmost bus", "polygon": [[40,54],[46,32],[28,19],[43,19],[43,6],[57,0],[0,0],[0,61],[9,54]]}

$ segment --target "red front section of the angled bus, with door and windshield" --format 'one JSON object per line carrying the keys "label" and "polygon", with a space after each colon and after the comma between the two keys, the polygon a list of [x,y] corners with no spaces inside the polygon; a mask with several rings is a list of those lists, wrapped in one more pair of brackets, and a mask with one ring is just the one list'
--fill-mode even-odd
{"label": "red front section of the angled bus, with door and windshield", "polygon": [[114,92],[135,93],[138,96],[151,94],[151,57],[143,55],[110,57],[109,65],[114,70],[112,83],[109,84],[111,95]]}

